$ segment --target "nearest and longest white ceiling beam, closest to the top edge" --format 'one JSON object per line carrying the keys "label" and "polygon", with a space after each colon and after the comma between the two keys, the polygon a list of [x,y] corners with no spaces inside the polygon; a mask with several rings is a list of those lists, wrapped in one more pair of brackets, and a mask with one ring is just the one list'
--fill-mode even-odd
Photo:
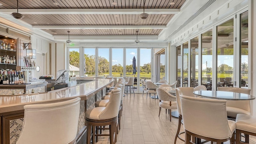
{"label": "nearest and longest white ceiling beam, closest to the top edge", "polygon": [[[17,9],[0,9],[0,12],[12,14]],[[147,14],[178,14],[180,9],[149,8]],[[20,14],[141,14],[143,9],[19,9]]]}

